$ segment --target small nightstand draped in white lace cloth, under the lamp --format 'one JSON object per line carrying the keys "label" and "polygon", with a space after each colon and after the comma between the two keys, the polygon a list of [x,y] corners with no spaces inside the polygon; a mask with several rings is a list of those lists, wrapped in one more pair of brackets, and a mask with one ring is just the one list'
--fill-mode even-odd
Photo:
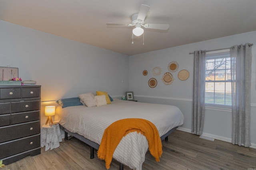
{"label": "small nightstand draped in white lace cloth, under the lamp", "polygon": [[50,127],[43,125],[41,128],[41,147],[45,146],[45,151],[48,149],[58,148],[62,142],[59,124]]}

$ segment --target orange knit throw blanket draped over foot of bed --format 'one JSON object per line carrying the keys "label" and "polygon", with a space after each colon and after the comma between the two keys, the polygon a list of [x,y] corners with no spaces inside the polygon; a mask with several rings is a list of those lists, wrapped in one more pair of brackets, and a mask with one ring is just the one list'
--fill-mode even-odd
{"label": "orange knit throw blanket draped over foot of bed", "polygon": [[121,119],[112,123],[105,129],[98,150],[98,158],[105,160],[107,169],[110,168],[114,151],[122,137],[134,131],[145,135],[148,140],[150,153],[154,156],[157,162],[160,161],[159,158],[162,155],[162,142],[156,126],[145,119]]}

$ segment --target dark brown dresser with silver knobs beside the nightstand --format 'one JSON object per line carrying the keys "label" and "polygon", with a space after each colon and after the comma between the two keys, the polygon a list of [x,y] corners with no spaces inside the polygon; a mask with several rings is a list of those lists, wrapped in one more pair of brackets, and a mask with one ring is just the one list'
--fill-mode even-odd
{"label": "dark brown dresser with silver knobs beside the nightstand", "polygon": [[10,164],[41,153],[41,86],[0,86],[0,160]]}

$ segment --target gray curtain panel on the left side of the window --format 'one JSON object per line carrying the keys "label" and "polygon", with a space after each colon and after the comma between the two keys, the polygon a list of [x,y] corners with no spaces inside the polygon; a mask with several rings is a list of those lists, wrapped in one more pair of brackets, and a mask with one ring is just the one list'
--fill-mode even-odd
{"label": "gray curtain panel on the left side of the window", "polygon": [[204,127],[205,53],[194,51],[194,94],[192,133],[202,135]]}

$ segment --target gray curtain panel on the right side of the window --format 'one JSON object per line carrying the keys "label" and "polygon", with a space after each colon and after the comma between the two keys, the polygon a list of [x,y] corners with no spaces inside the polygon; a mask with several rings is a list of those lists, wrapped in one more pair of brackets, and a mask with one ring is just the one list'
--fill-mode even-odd
{"label": "gray curtain panel on the right side of the window", "polygon": [[252,47],[230,49],[232,79],[232,144],[250,147]]}

